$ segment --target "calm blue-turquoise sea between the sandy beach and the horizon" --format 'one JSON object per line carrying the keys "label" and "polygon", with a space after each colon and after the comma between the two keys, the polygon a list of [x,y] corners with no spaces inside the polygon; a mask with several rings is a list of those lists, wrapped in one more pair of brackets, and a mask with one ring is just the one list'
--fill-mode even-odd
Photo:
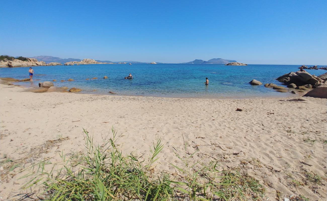
{"label": "calm blue-turquoise sea between the sandy beach and the horizon", "polygon": [[[307,65],[312,66],[312,65]],[[290,96],[271,88],[252,86],[252,79],[281,84],[277,77],[298,71],[300,65],[225,66],[218,64],[89,64],[74,66],[35,66],[32,82],[24,86],[38,86],[39,82],[58,80],[55,86],[77,87],[84,93],[143,95],[191,98],[248,98]],[[307,70],[321,75],[325,70]],[[129,73],[133,79],[124,79]],[[40,75],[42,74],[42,75]],[[107,75],[108,79],[103,79]],[[28,67],[0,68],[0,77],[28,78]],[[98,79],[91,79],[98,77]],[[203,84],[208,77],[209,85]],[[60,82],[60,80],[75,81]],[[90,78],[90,80],[85,80]],[[36,80],[40,79],[40,80]],[[97,90],[93,92],[93,90]]]}

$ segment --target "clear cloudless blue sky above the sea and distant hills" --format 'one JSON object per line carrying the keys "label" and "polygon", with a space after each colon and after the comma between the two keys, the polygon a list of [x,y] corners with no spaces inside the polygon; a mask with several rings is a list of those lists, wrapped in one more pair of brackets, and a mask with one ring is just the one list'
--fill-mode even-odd
{"label": "clear cloudless blue sky above the sea and distant hills", "polygon": [[10,0],[0,54],[327,65],[326,10],[326,0]]}

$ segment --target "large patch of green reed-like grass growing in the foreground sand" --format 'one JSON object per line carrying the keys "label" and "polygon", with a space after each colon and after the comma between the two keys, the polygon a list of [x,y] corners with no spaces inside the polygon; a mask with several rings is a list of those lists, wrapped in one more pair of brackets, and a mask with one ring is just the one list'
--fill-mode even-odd
{"label": "large patch of green reed-like grass growing in the foreground sand", "polygon": [[262,200],[265,188],[258,181],[237,170],[218,170],[212,161],[205,166],[190,164],[196,153],[176,153],[182,165],[171,164],[177,174],[154,174],[155,161],[163,149],[161,139],[153,143],[147,161],[124,156],[116,144],[117,132],[103,144],[94,145],[84,130],[86,153],[60,156],[63,167],[46,171],[51,163],[43,160],[31,167],[32,177],[23,188],[45,188],[42,200]]}

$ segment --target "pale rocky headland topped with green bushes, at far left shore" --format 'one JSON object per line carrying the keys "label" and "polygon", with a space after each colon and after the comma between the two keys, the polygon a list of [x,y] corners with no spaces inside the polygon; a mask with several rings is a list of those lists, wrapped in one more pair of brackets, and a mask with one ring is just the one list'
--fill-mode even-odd
{"label": "pale rocky headland topped with green bushes, at far left shore", "polygon": [[14,59],[14,60],[4,59],[3,61],[0,61],[0,68],[22,67],[22,66],[56,66],[56,65],[62,65],[62,64],[57,62],[45,63],[44,61],[38,61],[37,59],[34,58],[27,58],[26,61],[22,61],[19,59]]}

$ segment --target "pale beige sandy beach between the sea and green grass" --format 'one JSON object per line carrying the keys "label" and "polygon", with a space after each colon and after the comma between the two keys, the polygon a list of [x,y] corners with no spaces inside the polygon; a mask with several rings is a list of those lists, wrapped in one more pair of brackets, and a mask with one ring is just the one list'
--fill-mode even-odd
{"label": "pale beige sandy beach between the sea and green grass", "polygon": [[[30,191],[20,189],[25,180],[18,178],[31,161],[83,150],[82,128],[101,142],[112,126],[121,134],[118,142],[125,153],[147,157],[152,142],[162,138],[156,171],[174,172],[170,163],[181,163],[174,148],[182,150],[185,141],[189,153],[198,149],[192,161],[217,160],[221,168],[240,167],[267,188],[269,200],[276,200],[276,190],[281,200],[299,194],[326,200],[326,99],[217,100],[22,91],[0,85],[0,161],[6,156],[26,162],[11,172],[7,167],[0,170],[0,200],[15,200],[22,196],[19,193]],[[46,150],[45,142],[58,137],[69,139]],[[317,141],[304,142],[307,138]],[[322,184],[304,182],[305,171],[322,176]],[[292,180],[303,185],[295,186]]]}

